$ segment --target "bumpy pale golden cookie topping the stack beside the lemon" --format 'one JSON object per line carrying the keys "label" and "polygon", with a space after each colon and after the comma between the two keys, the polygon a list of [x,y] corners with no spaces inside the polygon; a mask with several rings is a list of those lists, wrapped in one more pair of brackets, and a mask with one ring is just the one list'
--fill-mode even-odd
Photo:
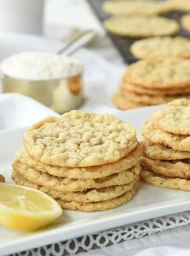
{"label": "bumpy pale golden cookie topping the stack beside the lemon", "polygon": [[32,125],[24,146],[38,162],[86,167],[116,162],[137,146],[137,138],[132,126],[109,114],[73,110]]}

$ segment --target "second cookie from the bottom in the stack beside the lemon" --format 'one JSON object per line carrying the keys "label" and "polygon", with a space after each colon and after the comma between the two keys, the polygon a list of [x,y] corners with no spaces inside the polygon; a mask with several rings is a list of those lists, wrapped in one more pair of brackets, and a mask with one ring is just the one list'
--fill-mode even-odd
{"label": "second cookie from the bottom in the stack beside the lemon", "polygon": [[64,201],[75,201],[80,203],[89,203],[89,202],[100,202],[116,198],[131,190],[134,184],[139,180],[139,177],[136,177],[131,183],[121,185],[121,186],[111,186],[102,189],[88,189],[84,192],[59,192],[53,189],[47,189],[44,186],[39,186],[37,184],[29,182],[21,174],[12,170],[11,178],[17,185],[32,187],[38,189],[49,196],[52,196],[54,199],[61,199]]}

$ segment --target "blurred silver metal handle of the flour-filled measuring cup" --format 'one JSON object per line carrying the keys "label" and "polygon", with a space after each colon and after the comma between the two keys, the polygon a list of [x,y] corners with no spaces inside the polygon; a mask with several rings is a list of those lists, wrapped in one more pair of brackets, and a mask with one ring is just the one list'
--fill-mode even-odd
{"label": "blurred silver metal handle of the flour-filled measuring cup", "polygon": [[76,52],[79,48],[89,43],[94,37],[97,36],[97,32],[94,30],[86,30],[82,32],[79,36],[75,39],[71,40],[66,46],[60,49],[57,54],[65,54],[65,55],[72,55]]}

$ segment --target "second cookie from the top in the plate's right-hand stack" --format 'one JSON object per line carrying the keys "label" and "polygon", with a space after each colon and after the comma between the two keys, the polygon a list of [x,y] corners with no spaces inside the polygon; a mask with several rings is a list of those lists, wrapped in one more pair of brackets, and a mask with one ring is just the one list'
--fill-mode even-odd
{"label": "second cookie from the top in the plate's right-hand stack", "polygon": [[173,150],[190,151],[190,136],[163,131],[157,126],[153,117],[143,122],[141,135],[154,144],[163,144]]}

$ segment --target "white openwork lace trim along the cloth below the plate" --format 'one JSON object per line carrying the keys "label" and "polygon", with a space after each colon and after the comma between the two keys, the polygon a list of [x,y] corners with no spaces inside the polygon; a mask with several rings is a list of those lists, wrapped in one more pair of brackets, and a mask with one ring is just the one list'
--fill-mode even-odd
{"label": "white openwork lace trim along the cloth below the plate", "polygon": [[92,235],[71,239],[62,243],[16,253],[12,256],[65,256],[100,249],[122,241],[141,238],[167,229],[184,226],[190,223],[190,211],[145,220],[134,224],[109,229]]}

